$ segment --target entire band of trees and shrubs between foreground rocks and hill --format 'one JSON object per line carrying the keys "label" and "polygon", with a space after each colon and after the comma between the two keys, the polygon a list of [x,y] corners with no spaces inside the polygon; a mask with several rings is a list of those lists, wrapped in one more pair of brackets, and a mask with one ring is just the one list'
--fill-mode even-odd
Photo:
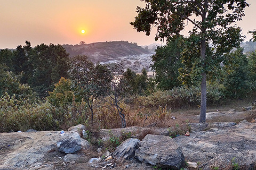
{"label": "entire band of trees and shrubs between foreground rocks and hill", "polygon": [[[15,50],[1,49],[0,132],[66,130],[78,123],[100,128],[163,123],[169,109],[198,106],[199,83],[182,78],[181,39],[158,47],[152,56],[155,78],[148,78],[146,69],[136,74],[122,64],[70,59],[61,45],[32,48],[26,41]],[[207,77],[209,105],[256,89],[256,52],[237,48],[225,58]]]}

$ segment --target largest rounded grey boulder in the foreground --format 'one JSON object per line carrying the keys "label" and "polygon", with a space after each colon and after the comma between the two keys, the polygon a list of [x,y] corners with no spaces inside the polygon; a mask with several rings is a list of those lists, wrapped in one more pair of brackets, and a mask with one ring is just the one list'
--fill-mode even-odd
{"label": "largest rounded grey boulder in the foreground", "polygon": [[135,158],[153,166],[180,169],[185,159],[177,143],[170,137],[148,134],[135,151]]}

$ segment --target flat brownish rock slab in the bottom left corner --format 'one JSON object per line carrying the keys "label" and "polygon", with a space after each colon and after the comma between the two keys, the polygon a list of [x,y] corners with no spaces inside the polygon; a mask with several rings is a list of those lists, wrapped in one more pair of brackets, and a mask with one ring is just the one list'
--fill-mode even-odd
{"label": "flat brownish rock slab in the bottom left corner", "polygon": [[[74,133],[65,132],[65,136]],[[44,161],[49,161],[47,155],[57,150],[57,141],[61,138],[58,131],[0,133],[0,169],[33,169],[43,166]],[[50,161],[58,162],[60,156],[63,154],[58,153]]]}

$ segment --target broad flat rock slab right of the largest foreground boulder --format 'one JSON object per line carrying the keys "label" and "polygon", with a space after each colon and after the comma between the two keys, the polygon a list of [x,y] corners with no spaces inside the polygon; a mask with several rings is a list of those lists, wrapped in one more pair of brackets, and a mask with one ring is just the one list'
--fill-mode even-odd
{"label": "broad flat rock slab right of the largest foreground boulder", "polygon": [[180,136],[174,140],[181,147],[186,161],[199,163],[199,168],[223,169],[238,164],[250,169],[256,163],[256,123],[226,125],[192,131],[190,137]]}

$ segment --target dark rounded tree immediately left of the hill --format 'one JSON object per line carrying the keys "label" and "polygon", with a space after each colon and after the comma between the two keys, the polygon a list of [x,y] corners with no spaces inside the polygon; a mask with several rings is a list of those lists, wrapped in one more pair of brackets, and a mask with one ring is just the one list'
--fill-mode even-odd
{"label": "dark rounded tree immediately left of the hill", "polygon": [[61,45],[37,45],[29,55],[31,76],[28,84],[43,98],[60,78],[68,78],[69,57]]}

